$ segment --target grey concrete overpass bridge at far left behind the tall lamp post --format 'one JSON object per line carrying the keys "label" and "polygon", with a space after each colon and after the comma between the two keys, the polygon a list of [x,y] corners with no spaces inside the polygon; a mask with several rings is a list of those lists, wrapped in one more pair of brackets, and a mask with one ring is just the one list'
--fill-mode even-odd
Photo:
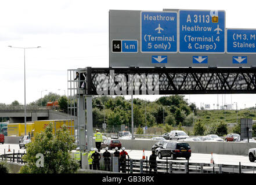
{"label": "grey concrete overpass bridge at far left behind the tall lamp post", "polygon": [[[0,117],[9,117],[10,123],[24,123],[24,106],[23,105],[6,105],[0,106]],[[37,120],[66,120],[68,114],[55,109],[48,109],[39,106],[26,107],[27,121]]]}

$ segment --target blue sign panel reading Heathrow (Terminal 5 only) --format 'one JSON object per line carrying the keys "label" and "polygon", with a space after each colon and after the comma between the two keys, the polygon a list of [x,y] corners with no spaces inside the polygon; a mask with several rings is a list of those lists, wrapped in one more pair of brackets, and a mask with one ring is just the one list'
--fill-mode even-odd
{"label": "blue sign panel reading Heathrow (Terminal 5 only)", "polygon": [[140,38],[142,53],[176,53],[177,13],[141,12]]}

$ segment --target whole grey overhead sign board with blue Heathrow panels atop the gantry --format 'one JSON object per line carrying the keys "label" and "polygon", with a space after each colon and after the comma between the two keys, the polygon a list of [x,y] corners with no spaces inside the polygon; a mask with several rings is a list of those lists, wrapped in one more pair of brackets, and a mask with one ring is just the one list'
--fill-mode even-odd
{"label": "whole grey overhead sign board with blue Heathrow panels atop the gantry", "polygon": [[[230,29],[230,32],[235,31]],[[255,67],[254,32],[253,29],[250,29],[248,34],[246,32],[246,38],[250,39],[244,41],[244,32],[241,32],[240,36],[236,31],[236,40],[232,40],[232,43],[228,41],[227,44],[229,29],[225,28],[223,10],[110,10],[109,66]],[[233,37],[233,34],[231,36]],[[233,42],[240,43],[241,40],[245,45],[250,47],[251,44],[252,47],[245,50],[240,47],[239,50],[232,49]],[[229,45],[232,46],[231,49]],[[204,59],[204,56],[207,58]]]}

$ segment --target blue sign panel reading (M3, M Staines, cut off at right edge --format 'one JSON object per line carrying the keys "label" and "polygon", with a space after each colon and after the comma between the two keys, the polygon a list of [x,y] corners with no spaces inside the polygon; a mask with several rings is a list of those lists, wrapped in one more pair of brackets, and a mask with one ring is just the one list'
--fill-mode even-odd
{"label": "blue sign panel reading (M3, M Staines, cut off at right edge", "polygon": [[256,29],[227,29],[228,53],[256,53]]}

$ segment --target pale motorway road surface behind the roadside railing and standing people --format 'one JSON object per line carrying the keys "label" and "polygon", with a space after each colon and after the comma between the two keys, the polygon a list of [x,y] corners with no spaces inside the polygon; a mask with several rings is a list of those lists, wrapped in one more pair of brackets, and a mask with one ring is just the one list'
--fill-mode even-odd
{"label": "pale motorway road surface behind the roadside railing and standing people", "polygon": [[[20,153],[23,153],[26,151],[25,149],[19,149],[19,145],[17,144],[10,144],[10,152],[8,152],[9,144],[0,144],[0,154],[4,154],[4,149],[6,153],[13,153],[13,149],[15,149],[15,153],[20,151]],[[114,149],[109,150],[110,153],[114,153]],[[121,150],[120,150],[121,151]],[[129,157],[135,160],[142,159],[143,150],[128,150],[126,149],[127,153],[129,154]],[[100,150],[100,154],[104,152],[103,150]],[[149,160],[149,156],[152,154],[152,151],[145,151],[145,156],[147,156],[147,159]],[[235,155],[223,155],[223,154],[213,154],[214,157],[214,163],[215,164],[226,164],[226,165],[239,165],[239,162],[241,162],[241,165],[244,166],[256,166],[255,162],[250,162],[248,156],[235,156]],[[158,157],[157,157],[157,160]],[[166,161],[166,158],[163,158],[159,161]],[[187,162],[185,158],[177,158],[176,160],[170,160],[168,158],[168,161],[176,161],[176,162]],[[206,163],[210,164],[211,161],[211,154],[199,154],[199,153],[193,153],[190,157],[189,162],[194,163]]]}

